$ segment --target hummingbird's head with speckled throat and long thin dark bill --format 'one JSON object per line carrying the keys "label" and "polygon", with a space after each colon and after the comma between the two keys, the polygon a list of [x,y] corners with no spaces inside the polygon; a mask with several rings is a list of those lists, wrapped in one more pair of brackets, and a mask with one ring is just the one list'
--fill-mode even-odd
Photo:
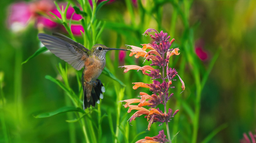
{"label": "hummingbird's head with speckled throat and long thin dark bill", "polygon": [[90,52],[90,56],[95,56],[96,58],[98,58],[99,60],[106,60],[106,53],[109,50],[123,50],[123,51],[128,51],[128,50],[124,50],[124,49],[116,49],[116,48],[109,48],[105,45],[102,44],[95,44]]}

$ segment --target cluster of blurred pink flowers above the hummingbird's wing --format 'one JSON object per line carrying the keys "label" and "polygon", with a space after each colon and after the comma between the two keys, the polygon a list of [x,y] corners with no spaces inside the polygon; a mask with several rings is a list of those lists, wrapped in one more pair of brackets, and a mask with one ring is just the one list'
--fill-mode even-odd
{"label": "cluster of blurred pink flowers above the hummingbird's wing", "polygon": [[[59,7],[66,8],[66,4],[62,3],[59,4]],[[35,20],[35,26],[37,28],[55,28],[57,26],[61,26],[52,20],[43,17],[40,13],[45,13],[48,16],[56,19],[52,14],[55,14],[58,18],[61,18],[61,14],[55,7],[53,1],[51,0],[39,0],[31,3],[26,2],[19,2],[11,5],[10,13],[8,18],[8,25],[10,26],[11,30],[14,32],[20,31],[24,29],[28,23],[32,20]],[[69,7],[67,10],[67,19],[72,20],[80,20],[82,16],[75,13],[74,8]],[[63,28],[61,28],[63,29]],[[84,32],[82,25],[71,25],[71,31],[75,35],[81,35],[81,31]]]}

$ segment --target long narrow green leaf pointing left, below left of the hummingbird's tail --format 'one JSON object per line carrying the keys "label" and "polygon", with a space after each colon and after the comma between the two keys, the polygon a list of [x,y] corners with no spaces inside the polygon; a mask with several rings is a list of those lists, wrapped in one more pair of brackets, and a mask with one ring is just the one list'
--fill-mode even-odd
{"label": "long narrow green leaf pointing left, below left of the hummingbird's tail", "polygon": [[46,118],[46,117],[51,117],[53,115],[57,115],[60,113],[65,113],[65,112],[81,112],[81,113],[85,113],[84,110],[82,110],[81,108],[76,108],[73,106],[65,106],[65,107],[61,107],[53,112],[49,112],[49,113],[42,113],[39,114],[37,116],[34,116],[35,118]]}

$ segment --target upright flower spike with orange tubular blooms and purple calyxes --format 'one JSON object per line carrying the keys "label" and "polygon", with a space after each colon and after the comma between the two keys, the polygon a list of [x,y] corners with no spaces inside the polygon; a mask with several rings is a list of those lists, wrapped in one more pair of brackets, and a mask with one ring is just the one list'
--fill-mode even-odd
{"label": "upright flower spike with orange tubular blooms and purple calyxes", "polygon": [[[141,47],[130,46],[131,49],[128,49],[131,51],[129,56],[135,55],[135,58],[144,58],[144,62],[151,61],[152,63],[145,66],[137,66],[137,65],[127,65],[122,66],[125,68],[124,73],[128,72],[129,70],[137,70],[142,71],[143,74],[151,77],[151,80],[153,80],[153,83],[143,83],[143,82],[135,82],[133,86],[133,89],[137,89],[138,87],[145,87],[149,88],[149,91],[151,91],[153,94],[150,95],[145,92],[140,92],[140,99],[128,99],[123,100],[121,102],[126,102],[124,107],[129,107],[128,113],[131,112],[131,110],[138,110],[136,111],[131,118],[128,120],[129,123],[131,123],[133,120],[135,120],[137,117],[140,117],[141,115],[145,115],[144,117],[148,121],[148,128],[147,130],[150,130],[150,127],[153,123],[160,122],[160,125],[163,123],[166,123],[166,126],[172,118],[179,112],[179,110],[176,110],[174,113],[172,112],[172,109],[169,108],[166,110],[166,103],[173,97],[173,93],[169,94],[169,89],[174,88],[173,81],[176,81],[174,79],[176,75],[178,75],[178,72],[174,68],[169,68],[168,63],[169,59],[173,55],[180,55],[179,48],[170,49],[172,43],[174,42],[174,39],[169,41],[170,36],[168,36],[167,33],[164,33],[161,31],[160,33],[155,29],[147,29],[143,35],[148,35],[149,32],[155,32],[155,36],[150,34],[150,37],[155,40],[153,44],[141,44]],[[143,62],[143,64],[144,64]],[[156,68],[153,66],[157,66]],[[158,67],[161,69],[158,69]],[[185,84],[181,77],[178,75],[181,83],[182,83],[182,91],[185,89]],[[135,103],[137,105],[131,105],[132,103]],[[157,106],[159,104],[164,105],[164,111],[161,111]],[[142,107],[143,106],[143,107]],[[146,106],[151,107],[149,109],[146,108]],[[169,128],[167,128],[168,138],[170,139],[169,135]],[[137,141],[137,143],[163,143],[168,142],[168,139],[164,135],[163,131],[160,131],[159,135],[156,137],[145,137],[145,139],[141,139]]]}

